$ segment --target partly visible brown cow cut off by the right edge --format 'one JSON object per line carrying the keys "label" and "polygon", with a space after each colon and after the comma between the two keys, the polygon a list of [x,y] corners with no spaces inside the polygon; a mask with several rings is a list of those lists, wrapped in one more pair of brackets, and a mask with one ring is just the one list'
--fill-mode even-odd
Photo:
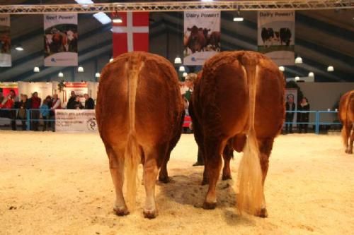
{"label": "partly visible brown cow cut off by the right edge", "polygon": [[338,115],[343,124],[342,137],[346,153],[352,154],[354,141],[354,90],[346,92],[341,97]]}

